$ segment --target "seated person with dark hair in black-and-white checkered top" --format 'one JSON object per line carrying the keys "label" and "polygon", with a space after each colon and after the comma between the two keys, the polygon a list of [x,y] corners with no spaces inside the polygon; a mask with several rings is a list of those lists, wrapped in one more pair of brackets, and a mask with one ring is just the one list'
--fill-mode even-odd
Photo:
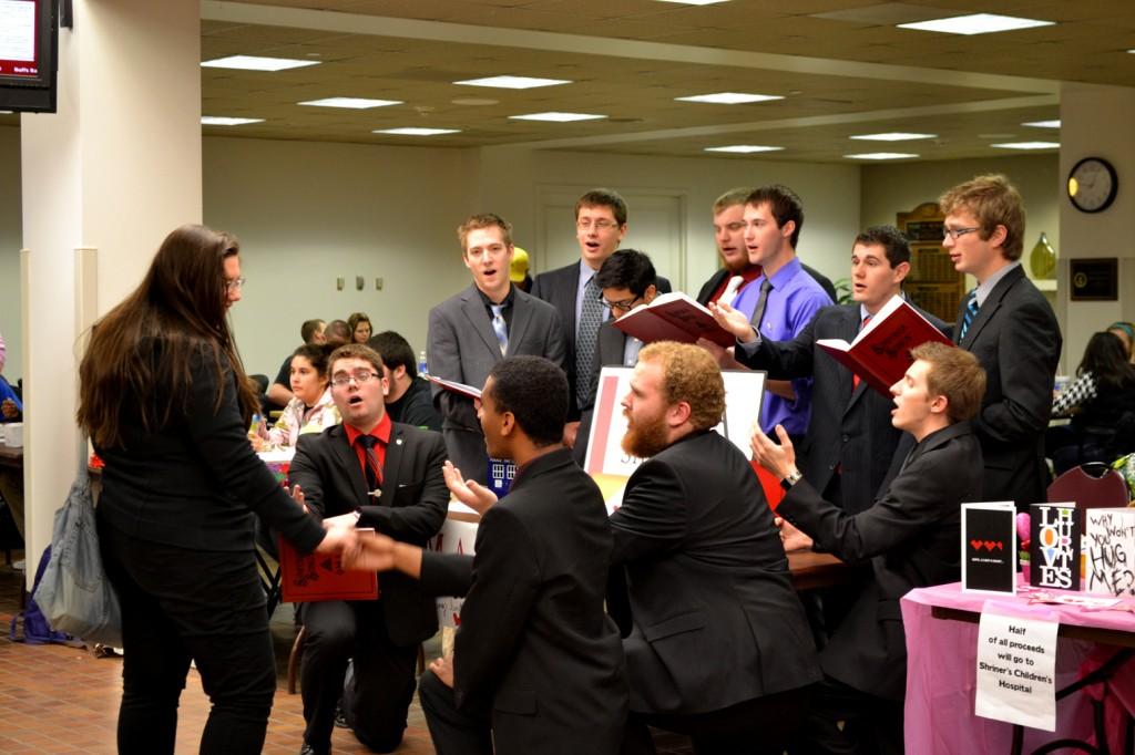
{"label": "seated person with dark hair in black-and-white checkered top", "polygon": [[1135,450],[1127,448],[1135,423],[1135,365],[1119,337],[1094,333],[1076,375],[1052,402],[1052,416],[1071,416],[1071,423],[1050,427],[1044,439],[1045,456],[1058,475]]}

